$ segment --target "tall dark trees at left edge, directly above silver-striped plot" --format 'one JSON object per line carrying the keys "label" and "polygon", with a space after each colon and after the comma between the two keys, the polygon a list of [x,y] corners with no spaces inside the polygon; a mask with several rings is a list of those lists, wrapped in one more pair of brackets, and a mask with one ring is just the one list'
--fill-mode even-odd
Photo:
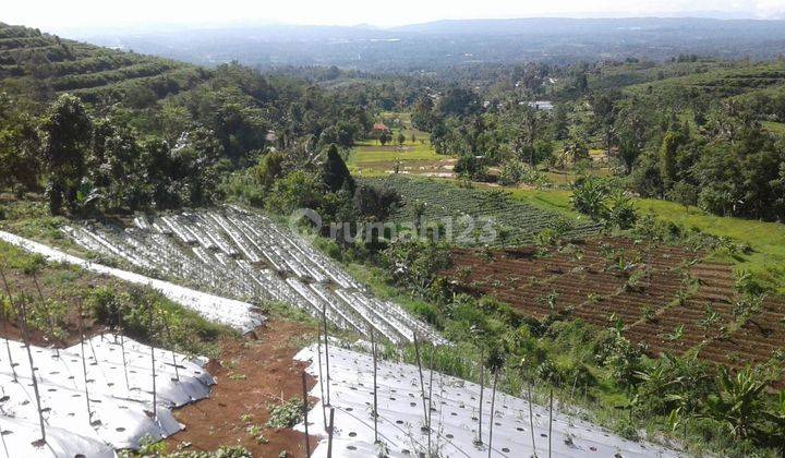
{"label": "tall dark trees at left edge, directly above silver-striped plot", "polygon": [[112,118],[94,118],[71,95],[40,119],[22,114],[2,125],[3,184],[45,188],[52,214],[202,205],[216,192],[222,150],[204,129],[170,146]]}

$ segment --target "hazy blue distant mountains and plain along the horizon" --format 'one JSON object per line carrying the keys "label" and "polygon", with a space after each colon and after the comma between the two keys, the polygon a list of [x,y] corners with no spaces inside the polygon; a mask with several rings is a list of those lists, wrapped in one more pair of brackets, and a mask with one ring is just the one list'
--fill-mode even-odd
{"label": "hazy blue distant mountains and plain along the horizon", "polygon": [[68,36],[203,65],[238,60],[262,69],[338,65],[421,72],[532,60],[665,60],[680,53],[770,59],[785,50],[785,21],[539,17],[437,21],[392,28],[268,24]]}

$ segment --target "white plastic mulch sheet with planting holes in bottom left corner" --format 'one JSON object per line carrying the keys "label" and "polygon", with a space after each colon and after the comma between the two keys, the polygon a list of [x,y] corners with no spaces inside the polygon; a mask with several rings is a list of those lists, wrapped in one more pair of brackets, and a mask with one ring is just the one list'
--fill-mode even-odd
{"label": "white plastic mulch sheet with planting holes in bottom left corner", "polygon": [[31,350],[47,434],[43,445],[33,444],[41,435],[27,349],[0,340],[0,447],[13,456],[111,457],[143,439],[159,441],[183,427],[170,409],[206,398],[215,384],[204,361],[156,349],[154,415],[150,347],[105,335],[59,353]]}

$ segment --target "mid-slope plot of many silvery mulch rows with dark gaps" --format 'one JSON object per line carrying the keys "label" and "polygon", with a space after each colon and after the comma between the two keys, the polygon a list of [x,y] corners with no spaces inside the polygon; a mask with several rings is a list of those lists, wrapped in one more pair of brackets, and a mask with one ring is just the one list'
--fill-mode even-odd
{"label": "mid-slope plot of many silvery mulch rows with dark gaps", "polygon": [[182,213],[135,227],[65,228],[81,246],[122,260],[153,277],[249,302],[278,301],[322,313],[341,329],[375,329],[394,343],[440,341],[399,305],[365,291],[342,268],[265,216],[240,208]]}

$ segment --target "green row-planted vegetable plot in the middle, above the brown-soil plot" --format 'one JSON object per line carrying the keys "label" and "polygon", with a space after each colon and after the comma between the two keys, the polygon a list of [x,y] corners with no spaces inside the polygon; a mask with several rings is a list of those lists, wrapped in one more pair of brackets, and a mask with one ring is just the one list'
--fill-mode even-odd
{"label": "green row-planted vegetable plot in the middle, above the brown-soil plot", "polygon": [[[412,224],[419,216],[426,225],[449,220],[451,240],[459,245],[520,244],[531,242],[541,231],[555,227],[564,227],[570,238],[600,230],[594,222],[567,220],[555,213],[515,201],[503,191],[459,189],[444,181],[399,176],[363,182],[395,189],[401,195],[402,202],[392,215],[394,221]],[[492,221],[495,231],[491,242],[478,240],[478,234],[488,232],[486,221]]]}

